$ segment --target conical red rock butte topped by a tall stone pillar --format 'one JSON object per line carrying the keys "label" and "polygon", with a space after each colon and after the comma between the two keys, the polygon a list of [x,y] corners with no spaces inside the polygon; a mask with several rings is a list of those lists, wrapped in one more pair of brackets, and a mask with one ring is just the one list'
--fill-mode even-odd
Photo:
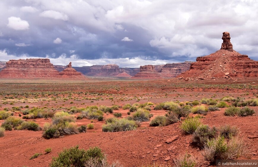
{"label": "conical red rock butte topped by a tall stone pillar", "polygon": [[[258,76],[258,61],[233,50],[230,33],[223,32],[221,49],[207,56],[197,57],[190,70],[179,79],[233,79]],[[188,80],[187,79],[187,80]]]}

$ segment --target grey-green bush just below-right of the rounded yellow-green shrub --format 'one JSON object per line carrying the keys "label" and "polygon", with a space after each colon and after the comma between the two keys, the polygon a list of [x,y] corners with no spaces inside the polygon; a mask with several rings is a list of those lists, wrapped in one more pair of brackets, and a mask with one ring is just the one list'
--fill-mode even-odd
{"label": "grey-green bush just below-right of the rounded yellow-green shrub", "polygon": [[192,141],[198,146],[203,147],[208,139],[214,138],[216,135],[216,128],[210,128],[208,125],[200,125],[192,135]]}

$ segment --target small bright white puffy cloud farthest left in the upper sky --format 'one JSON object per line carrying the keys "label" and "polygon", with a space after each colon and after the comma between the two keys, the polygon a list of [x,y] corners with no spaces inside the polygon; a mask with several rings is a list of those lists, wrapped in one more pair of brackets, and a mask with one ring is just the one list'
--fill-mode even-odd
{"label": "small bright white puffy cloud farthest left in the upper sky", "polygon": [[8,18],[8,24],[7,26],[9,28],[15,29],[15,30],[26,30],[29,29],[29,23],[26,20],[22,20],[19,17],[9,17]]}

